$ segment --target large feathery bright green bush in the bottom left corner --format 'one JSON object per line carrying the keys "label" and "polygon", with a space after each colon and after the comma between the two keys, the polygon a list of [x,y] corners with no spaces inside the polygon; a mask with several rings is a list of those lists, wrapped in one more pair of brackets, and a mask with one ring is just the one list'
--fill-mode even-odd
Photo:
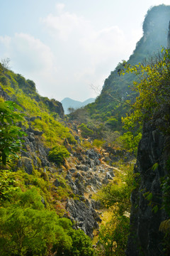
{"label": "large feathery bright green bush in the bottom left corner", "polygon": [[68,249],[71,226],[70,220],[60,220],[55,212],[45,210],[35,189],[18,191],[13,203],[0,208],[1,255],[48,255],[53,244]]}

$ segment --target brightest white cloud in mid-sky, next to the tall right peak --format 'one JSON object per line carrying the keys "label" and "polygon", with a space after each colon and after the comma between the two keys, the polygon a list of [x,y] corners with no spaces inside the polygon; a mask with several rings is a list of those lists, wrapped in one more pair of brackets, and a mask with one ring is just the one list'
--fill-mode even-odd
{"label": "brightest white cloud in mid-sky, next to the tall right peak", "polygon": [[[40,21],[46,33],[56,42],[58,49],[63,50],[61,70],[68,72],[70,80],[81,84],[84,83],[81,80],[86,80],[91,84],[92,80],[101,77],[101,74],[98,74],[98,69],[101,71],[101,63],[103,73],[109,75],[105,73],[105,66],[110,65],[110,71],[113,70],[114,65],[122,60],[124,53],[132,48],[132,41],[126,43],[125,34],[118,26],[97,30],[84,17],[64,11],[64,5],[57,6],[57,9],[60,9],[60,12],[49,14]],[[132,50],[134,48],[131,52]],[[71,69],[72,73],[67,69]]]}

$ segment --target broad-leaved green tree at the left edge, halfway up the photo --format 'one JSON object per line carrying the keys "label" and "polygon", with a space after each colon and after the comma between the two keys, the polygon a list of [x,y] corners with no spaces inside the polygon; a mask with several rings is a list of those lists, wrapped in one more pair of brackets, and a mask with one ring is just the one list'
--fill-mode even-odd
{"label": "broad-leaved green tree at the left edge, halfway up the photo", "polygon": [[6,165],[11,156],[18,157],[21,149],[21,137],[26,135],[17,122],[23,121],[22,110],[15,102],[0,99],[0,162]]}

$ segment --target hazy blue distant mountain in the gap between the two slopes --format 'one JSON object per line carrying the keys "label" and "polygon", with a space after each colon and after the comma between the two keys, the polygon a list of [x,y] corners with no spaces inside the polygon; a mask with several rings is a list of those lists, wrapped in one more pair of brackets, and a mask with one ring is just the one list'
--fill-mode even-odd
{"label": "hazy blue distant mountain in the gap between the two slopes", "polygon": [[80,102],[79,100],[72,100],[69,97],[65,97],[64,100],[61,101],[61,103],[64,108],[64,113],[69,114],[69,111],[68,111],[69,107],[77,110],[78,108],[84,107],[94,101],[95,101],[95,98],[89,98],[88,100],[85,100],[84,102]]}

